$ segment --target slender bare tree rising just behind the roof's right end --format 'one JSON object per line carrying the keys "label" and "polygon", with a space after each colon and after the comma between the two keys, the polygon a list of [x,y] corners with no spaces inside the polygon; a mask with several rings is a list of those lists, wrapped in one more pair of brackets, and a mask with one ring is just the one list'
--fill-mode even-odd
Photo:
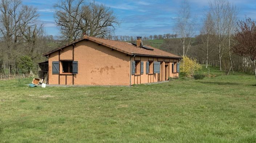
{"label": "slender bare tree rising just behind the roof's right end", "polygon": [[186,56],[190,46],[191,36],[194,34],[194,25],[192,24],[190,15],[190,5],[187,0],[182,1],[176,21],[175,31],[176,34],[179,35],[180,42],[183,45],[183,56]]}

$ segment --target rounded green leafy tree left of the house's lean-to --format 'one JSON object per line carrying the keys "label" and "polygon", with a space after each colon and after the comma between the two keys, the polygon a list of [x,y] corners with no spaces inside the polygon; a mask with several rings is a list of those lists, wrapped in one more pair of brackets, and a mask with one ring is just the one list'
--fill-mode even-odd
{"label": "rounded green leafy tree left of the house's lean-to", "polygon": [[29,73],[33,68],[33,62],[29,56],[21,56],[18,62],[18,68],[22,73]]}

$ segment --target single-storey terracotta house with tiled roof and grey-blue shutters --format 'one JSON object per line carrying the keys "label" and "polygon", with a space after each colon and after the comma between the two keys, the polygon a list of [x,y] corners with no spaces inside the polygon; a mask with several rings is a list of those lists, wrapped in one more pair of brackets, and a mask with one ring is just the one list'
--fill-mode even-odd
{"label": "single-storey terracotta house with tiled roof and grey-blue shutters", "polygon": [[179,77],[180,56],[142,44],[84,36],[45,53],[48,84],[131,85]]}

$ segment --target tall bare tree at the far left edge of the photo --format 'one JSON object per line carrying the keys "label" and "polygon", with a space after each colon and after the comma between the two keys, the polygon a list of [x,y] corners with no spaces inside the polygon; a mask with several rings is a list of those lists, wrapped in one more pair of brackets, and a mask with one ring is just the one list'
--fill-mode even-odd
{"label": "tall bare tree at the far left edge of the photo", "polygon": [[23,49],[22,32],[29,26],[37,25],[38,14],[31,6],[22,5],[20,0],[1,0],[0,2],[0,35],[3,36],[5,53],[8,59],[9,72],[16,70],[16,59]]}

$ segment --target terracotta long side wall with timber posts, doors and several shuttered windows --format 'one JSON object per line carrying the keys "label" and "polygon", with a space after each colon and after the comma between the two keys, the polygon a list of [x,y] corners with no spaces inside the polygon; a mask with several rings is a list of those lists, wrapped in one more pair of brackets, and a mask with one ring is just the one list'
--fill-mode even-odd
{"label": "terracotta long side wall with timber posts, doors and several shuttered windows", "polygon": [[[131,61],[143,61],[143,74],[138,75],[132,75],[131,76],[131,84],[143,84],[143,83],[153,83],[158,82],[158,73],[156,74],[146,74],[146,62],[147,61],[159,61],[161,62],[160,65],[160,80],[159,81],[166,81],[166,77],[179,77],[179,73],[176,71],[176,64],[174,65],[174,73],[172,73],[172,63],[178,62],[178,59],[170,59],[170,58],[156,58],[156,57],[139,57],[136,56],[134,58],[131,58]],[[168,65],[168,72],[165,74],[165,65]]]}

